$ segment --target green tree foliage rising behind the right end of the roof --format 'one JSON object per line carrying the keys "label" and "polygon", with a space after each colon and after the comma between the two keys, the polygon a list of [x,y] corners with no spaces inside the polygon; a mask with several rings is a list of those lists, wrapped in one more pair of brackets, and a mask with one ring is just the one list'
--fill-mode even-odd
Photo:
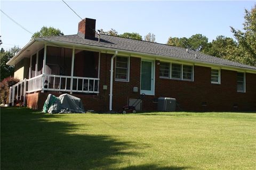
{"label": "green tree foliage rising behind the right end of the roof", "polygon": [[243,30],[230,27],[237,41],[218,36],[208,43],[207,37],[196,34],[190,38],[170,37],[167,45],[189,48],[226,60],[256,66],[256,5],[251,11],[245,10],[244,19]]}

